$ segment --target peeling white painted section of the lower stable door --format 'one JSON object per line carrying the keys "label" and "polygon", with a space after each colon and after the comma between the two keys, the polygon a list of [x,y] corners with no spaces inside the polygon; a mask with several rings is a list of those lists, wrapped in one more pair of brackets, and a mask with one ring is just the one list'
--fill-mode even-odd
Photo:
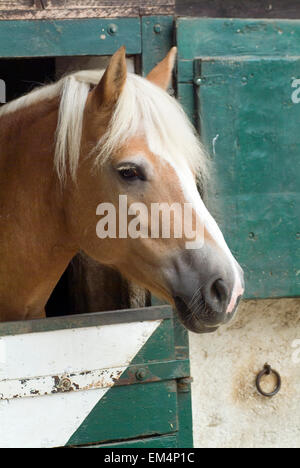
{"label": "peeling white painted section of the lower stable door", "polygon": [[[41,389],[47,392],[53,384],[49,376],[74,373],[74,380],[78,379],[84,389],[87,380],[79,374],[95,369],[100,374],[102,370],[99,385],[105,388],[0,400],[0,447],[64,446],[160,323],[155,320],[1,337],[5,360],[0,367],[0,387],[7,385],[10,395],[17,381],[39,378]],[[97,372],[92,372],[93,378],[97,387]]]}

